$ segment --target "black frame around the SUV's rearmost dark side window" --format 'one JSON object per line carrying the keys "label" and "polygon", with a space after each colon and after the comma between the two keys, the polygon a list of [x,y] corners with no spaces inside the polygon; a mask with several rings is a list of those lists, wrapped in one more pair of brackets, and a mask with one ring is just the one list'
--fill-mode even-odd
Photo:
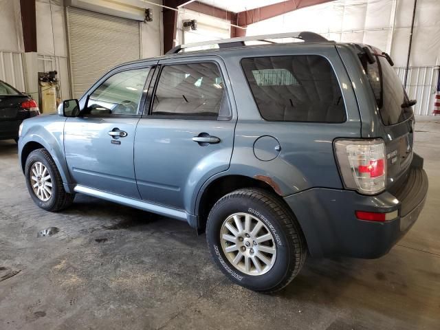
{"label": "black frame around the SUV's rearmost dark side window", "polygon": [[[325,61],[327,61],[327,63],[329,63],[329,66],[331,67],[331,70],[336,78],[336,80],[338,81],[338,86],[340,89],[340,94],[341,94],[341,98],[342,98],[342,102],[344,102],[344,120],[342,122],[316,122],[316,121],[309,121],[309,120],[267,120],[266,118],[263,117],[263,115],[261,115],[261,110],[259,108],[258,103],[256,102],[255,96],[254,96],[254,92],[252,91],[252,87],[250,86],[250,82],[248,80],[248,76],[246,76],[246,72],[245,69],[243,67],[243,60],[247,60],[247,59],[254,59],[254,58],[268,58],[268,57],[294,57],[294,56],[320,56],[321,58],[324,58]],[[331,63],[331,61],[329,60],[329,58],[327,58],[327,56],[324,56],[323,54],[314,54],[314,53],[298,53],[298,54],[265,54],[263,56],[244,56],[242,58],[240,58],[240,67],[241,67],[241,71],[243,72],[243,77],[246,81],[246,83],[248,84],[248,89],[250,92],[250,95],[252,96],[252,99],[254,100],[254,104],[256,107],[256,111],[259,114],[260,118],[262,120],[264,120],[265,122],[287,122],[287,123],[294,123],[294,122],[298,122],[298,123],[311,123],[311,124],[344,124],[347,122],[347,120],[349,120],[349,115],[347,113],[347,102],[344,98],[344,92],[342,91],[342,87],[340,85],[340,80],[338,75],[336,74],[336,70],[333,67],[333,64]],[[251,72],[252,73],[252,72]],[[295,77],[295,76],[294,76]],[[296,77],[295,77],[296,78]],[[300,81],[298,80],[298,83],[300,83]]]}

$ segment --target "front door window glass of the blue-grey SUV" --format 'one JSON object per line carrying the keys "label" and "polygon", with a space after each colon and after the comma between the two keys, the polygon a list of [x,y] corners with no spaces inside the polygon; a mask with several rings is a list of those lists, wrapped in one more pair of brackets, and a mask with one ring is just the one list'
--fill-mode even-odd
{"label": "front door window glass of the blue-grey SUV", "polygon": [[94,117],[137,115],[149,71],[144,67],[113,74],[90,94],[83,113]]}

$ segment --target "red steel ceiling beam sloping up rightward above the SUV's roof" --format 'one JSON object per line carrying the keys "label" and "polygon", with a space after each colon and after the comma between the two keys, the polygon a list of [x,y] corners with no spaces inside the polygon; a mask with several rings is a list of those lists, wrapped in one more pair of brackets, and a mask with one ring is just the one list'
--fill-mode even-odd
{"label": "red steel ceiling beam sloping up rightward above the SUV's roof", "polygon": [[285,14],[286,12],[293,12],[300,8],[309,7],[310,5],[319,5],[320,3],[330,1],[333,0],[289,0],[274,3],[272,5],[265,5],[260,8],[245,10],[236,14],[237,25],[245,28],[252,23],[263,21],[265,19],[272,19],[272,17]]}

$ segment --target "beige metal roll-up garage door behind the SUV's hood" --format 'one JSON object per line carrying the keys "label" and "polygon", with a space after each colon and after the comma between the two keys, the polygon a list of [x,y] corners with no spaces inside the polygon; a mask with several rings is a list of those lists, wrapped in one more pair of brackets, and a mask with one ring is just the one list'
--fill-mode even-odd
{"label": "beige metal roll-up garage door behind the SUV's hood", "polygon": [[138,21],[67,8],[74,98],[80,98],[109,69],[140,58]]}

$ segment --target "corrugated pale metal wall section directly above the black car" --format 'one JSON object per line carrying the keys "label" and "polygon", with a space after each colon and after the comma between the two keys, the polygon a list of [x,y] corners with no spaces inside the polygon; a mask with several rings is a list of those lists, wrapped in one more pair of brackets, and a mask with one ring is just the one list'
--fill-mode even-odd
{"label": "corrugated pale metal wall section directly above the black car", "polygon": [[23,57],[19,52],[0,52],[0,80],[25,91]]}

